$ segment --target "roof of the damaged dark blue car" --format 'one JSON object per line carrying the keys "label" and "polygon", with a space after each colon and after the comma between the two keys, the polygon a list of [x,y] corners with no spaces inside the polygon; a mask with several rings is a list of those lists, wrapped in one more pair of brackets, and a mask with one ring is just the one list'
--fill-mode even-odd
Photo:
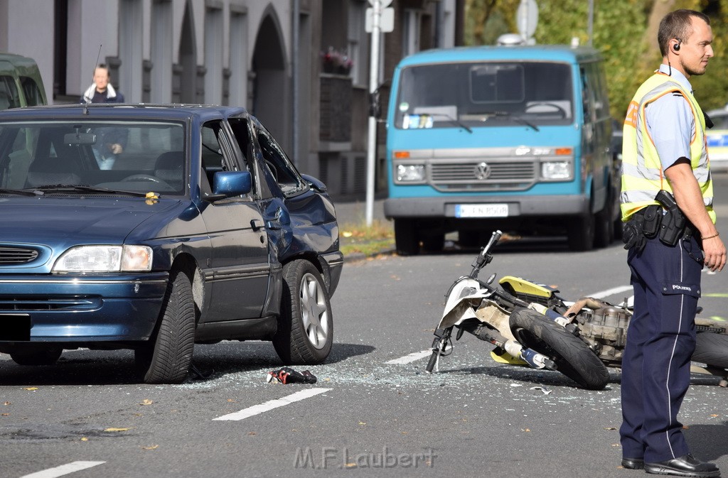
{"label": "roof of the damaged dark blue car", "polygon": [[167,119],[185,121],[197,118],[199,121],[208,119],[228,118],[231,116],[250,116],[245,108],[237,106],[220,105],[189,105],[189,104],[121,104],[121,103],[90,103],[87,105],[52,105],[32,106],[29,108],[15,108],[0,111],[0,121],[28,120],[28,119]]}

